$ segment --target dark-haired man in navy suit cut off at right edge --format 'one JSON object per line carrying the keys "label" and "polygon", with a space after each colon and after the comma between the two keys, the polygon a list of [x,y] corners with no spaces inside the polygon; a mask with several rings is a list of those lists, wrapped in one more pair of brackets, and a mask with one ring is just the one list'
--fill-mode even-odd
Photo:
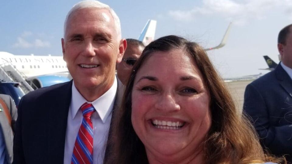
{"label": "dark-haired man in navy suit cut off at right edge", "polygon": [[245,89],[244,111],[251,116],[264,149],[275,155],[292,155],[292,24],[278,36],[281,62],[275,70]]}

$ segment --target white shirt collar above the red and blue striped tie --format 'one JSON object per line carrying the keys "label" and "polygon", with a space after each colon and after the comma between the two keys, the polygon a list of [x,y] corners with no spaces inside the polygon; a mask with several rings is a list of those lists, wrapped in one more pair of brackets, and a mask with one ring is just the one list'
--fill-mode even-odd
{"label": "white shirt collar above the red and blue striped tie", "polygon": [[81,105],[87,102],[93,105],[96,112],[99,114],[99,117],[101,118],[103,123],[105,123],[109,114],[113,110],[115,97],[116,97],[116,91],[117,91],[117,80],[115,77],[113,85],[109,88],[108,91],[106,91],[106,93],[104,93],[95,101],[89,102],[89,101],[86,101],[85,98],[79,93],[79,91],[75,87],[74,80],[73,80],[72,98],[71,98],[71,104],[70,104],[72,118],[74,119]]}

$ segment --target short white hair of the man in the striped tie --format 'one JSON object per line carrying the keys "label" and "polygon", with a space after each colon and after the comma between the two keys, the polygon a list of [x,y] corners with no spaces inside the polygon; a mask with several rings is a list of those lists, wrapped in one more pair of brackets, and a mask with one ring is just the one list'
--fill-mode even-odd
{"label": "short white hair of the man in the striped tie", "polygon": [[109,11],[109,13],[113,16],[113,20],[114,20],[115,26],[116,26],[117,39],[120,40],[122,38],[122,36],[121,36],[121,23],[120,23],[120,19],[119,19],[118,15],[116,15],[116,12],[113,11],[113,9],[109,7],[109,5],[106,5],[106,4],[101,3],[99,1],[96,1],[96,0],[84,0],[84,1],[76,3],[72,7],[72,9],[68,12],[66,19],[65,19],[65,22],[64,22],[64,37],[65,37],[69,17],[71,16],[72,13],[74,13],[75,11],[80,10],[80,9],[107,9]]}

